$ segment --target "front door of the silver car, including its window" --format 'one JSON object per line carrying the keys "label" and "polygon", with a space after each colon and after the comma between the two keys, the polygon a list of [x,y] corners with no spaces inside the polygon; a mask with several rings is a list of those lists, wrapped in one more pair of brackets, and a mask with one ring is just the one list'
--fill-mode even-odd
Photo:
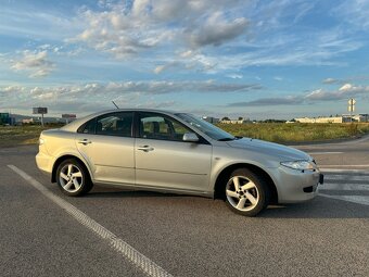
{"label": "front door of the silver car, including its window", "polygon": [[136,185],[160,189],[207,191],[212,146],[183,141],[193,133],[176,119],[151,112],[138,115],[135,143]]}

